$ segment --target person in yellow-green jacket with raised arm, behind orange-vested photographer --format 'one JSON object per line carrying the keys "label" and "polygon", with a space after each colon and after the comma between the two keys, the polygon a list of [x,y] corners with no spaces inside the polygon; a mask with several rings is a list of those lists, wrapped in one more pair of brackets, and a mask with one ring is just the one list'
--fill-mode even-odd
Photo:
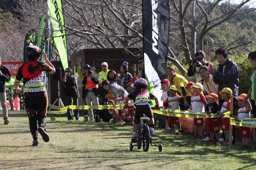
{"label": "person in yellow-green jacket with raised arm, behind orange-vested photographer", "polygon": [[[79,77],[81,78],[81,80],[83,80],[83,79],[86,77],[86,76],[85,76],[85,73],[89,71],[88,69],[90,68],[90,66],[89,66],[88,64],[84,65],[84,66],[83,66],[83,72],[82,72],[82,71],[81,71],[81,68],[80,68],[80,62],[81,62],[81,58],[77,58],[77,59],[76,59],[76,63],[77,63],[77,64],[76,64],[76,71],[78,72],[78,75],[79,75]],[[83,87],[82,87],[83,105],[87,105],[85,97],[86,97],[85,85],[83,85]],[[83,121],[87,122],[87,121],[88,121],[88,110],[85,109],[85,110],[83,111],[83,113],[84,113],[84,115],[85,115]]]}

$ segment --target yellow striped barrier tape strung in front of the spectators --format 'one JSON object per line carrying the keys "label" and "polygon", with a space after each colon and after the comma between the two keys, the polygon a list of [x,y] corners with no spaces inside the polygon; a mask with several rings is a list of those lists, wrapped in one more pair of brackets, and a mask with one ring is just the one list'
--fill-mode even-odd
{"label": "yellow striped barrier tape strung in front of the spectators", "polygon": [[[97,105],[97,106],[74,106],[69,105],[63,108],[59,106],[54,106],[48,104],[48,107],[60,110],[61,113],[67,112],[67,109],[96,109],[96,110],[104,110],[104,109],[124,109],[123,105]],[[220,115],[217,114],[204,114],[202,112],[192,112],[192,111],[180,111],[173,109],[152,109],[153,113],[162,114],[165,116],[176,116],[176,117],[186,117],[186,118],[218,118]],[[221,116],[225,118],[230,118],[230,124],[236,126],[245,126],[245,127],[254,127],[256,128],[256,118],[245,118],[245,119],[237,119],[230,117],[230,111],[223,113]]]}

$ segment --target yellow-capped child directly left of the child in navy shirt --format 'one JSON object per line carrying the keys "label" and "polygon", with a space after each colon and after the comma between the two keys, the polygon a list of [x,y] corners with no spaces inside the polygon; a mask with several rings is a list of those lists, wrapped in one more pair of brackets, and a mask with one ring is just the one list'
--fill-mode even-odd
{"label": "yellow-capped child directly left of the child in navy shirt", "polygon": [[[204,106],[207,105],[206,98],[202,94],[203,85],[201,83],[195,83],[193,86],[194,98],[192,103],[193,112],[204,112]],[[204,133],[204,118],[194,118],[194,136],[193,139],[203,139]]]}

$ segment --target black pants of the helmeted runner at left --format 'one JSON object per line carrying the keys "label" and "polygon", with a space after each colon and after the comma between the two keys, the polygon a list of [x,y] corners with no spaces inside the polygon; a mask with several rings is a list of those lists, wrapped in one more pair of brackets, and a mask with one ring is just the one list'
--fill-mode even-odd
{"label": "black pants of the helmeted runner at left", "polygon": [[33,140],[38,140],[38,133],[36,132],[38,127],[45,128],[46,126],[47,105],[48,98],[46,91],[24,94],[24,106],[28,114],[29,128],[31,135],[33,136]]}

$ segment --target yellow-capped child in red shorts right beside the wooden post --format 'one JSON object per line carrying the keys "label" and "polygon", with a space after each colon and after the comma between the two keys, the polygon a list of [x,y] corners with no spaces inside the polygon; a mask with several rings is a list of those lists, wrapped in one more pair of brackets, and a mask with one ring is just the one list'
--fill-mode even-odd
{"label": "yellow-capped child in red shorts right beside the wooden post", "polygon": [[[230,111],[230,95],[232,95],[232,90],[230,88],[223,88],[221,92],[221,99],[224,100],[221,110],[217,112],[218,115],[222,115],[225,112]],[[230,119],[221,116],[221,129],[225,133],[225,141],[222,143],[222,146],[229,146],[229,123]]]}

